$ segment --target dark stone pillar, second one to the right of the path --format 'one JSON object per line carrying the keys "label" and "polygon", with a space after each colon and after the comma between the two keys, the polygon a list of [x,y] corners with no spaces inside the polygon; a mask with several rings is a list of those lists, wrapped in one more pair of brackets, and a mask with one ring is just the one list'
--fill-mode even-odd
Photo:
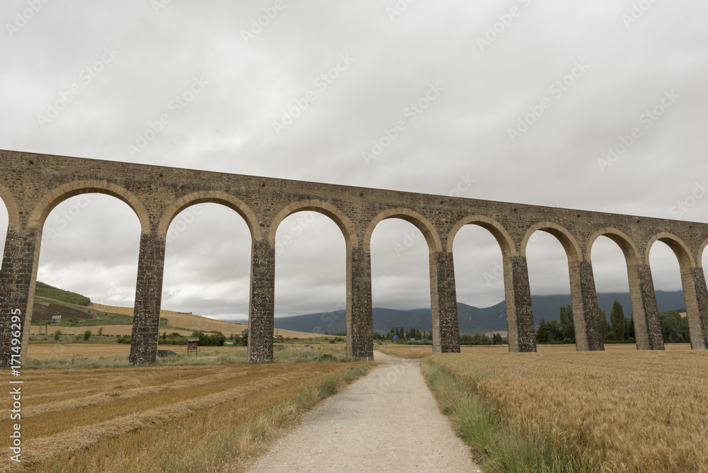
{"label": "dark stone pillar, second one to the right of the path", "polygon": [[535,352],[536,330],[525,256],[504,256],[504,295],[509,352]]}

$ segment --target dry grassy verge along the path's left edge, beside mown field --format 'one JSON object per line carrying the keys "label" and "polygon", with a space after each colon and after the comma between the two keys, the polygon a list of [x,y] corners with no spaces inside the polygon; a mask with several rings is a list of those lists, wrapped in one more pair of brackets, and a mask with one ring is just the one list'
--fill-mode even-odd
{"label": "dry grassy verge along the path's left edge, beside mown field", "polygon": [[185,455],[185,460],[161,465],[161,471],[174,473],[241,472],[263,455],[273,441],[290,431],[302,416],[321,400],[341,391],[366,375],[372,363],[346,368],[326,375],[314,387],[305,389],[290,400],[273,406],[254,421],[236,426],[209,443]]}

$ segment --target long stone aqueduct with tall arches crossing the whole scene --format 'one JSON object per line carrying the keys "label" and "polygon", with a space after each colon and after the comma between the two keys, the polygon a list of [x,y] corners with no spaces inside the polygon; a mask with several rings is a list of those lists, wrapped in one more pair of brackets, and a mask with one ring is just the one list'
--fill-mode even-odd
{"label": "long stone aqueduct with tall arches crossing the whole scene", "polygon": [[22,358],[26,356],[45,220],[56,205],[82,193],[112,195],[139,218],[133,364],[156,359],[170,222],[199,203],[230,207],[251,231],[251,362],[273,358],[275,232],[285,217],[304,210],[330,217],[346,241],[347,353],[353,358],[372,359],[369,244],[377,224],[389,218],[411,222],[428,242],[435,353],[459,351],[452,242],[467,224],[489,230],[501,246],[509,351],[536,351],[525,249],[537,230],[556,236],[568,256],[578,351],[604,348],[590,262],[593,242],[601,235],[624,252],[637,348],[663,349],[649,268],[649,249],[657,240],[668,244],[680,263],[691,346],[708,345],[708,290],[701,261],[708,224],[27,152],[0,151],[0,170],[0,198],[9,218],[0,272],[0,353],[5,366],[13,353],[11,314],[23,316]]}

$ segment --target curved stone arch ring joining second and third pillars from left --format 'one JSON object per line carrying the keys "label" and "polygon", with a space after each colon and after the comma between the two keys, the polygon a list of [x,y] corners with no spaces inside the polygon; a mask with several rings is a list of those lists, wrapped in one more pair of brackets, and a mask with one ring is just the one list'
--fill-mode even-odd
{"label": "curved stone arch ring joining second and third pillars from left", "polygon": [[160,235],[166,235],[170,224],[175,217],[180,214],[180,212],[193,205],[203,203],[221,204],[235,210],[236,213],[241,215],[241,217],[244,217],[244,220],[246,220],[246,225],[249,226],[249,230],[251,232],[251,239],[256,241],[263,239],[261,226],[258,224],[258,217],[256,217],[256,214],[253,210],[251,210],[251,207],[246,205],[243,200],[235,197],[234,195],[217,190],[200,190],[198,192],[183,195],[181,198],[175,200],[162,213],[162,218],[160,219],[160,223],[157,227],[157,233]]}

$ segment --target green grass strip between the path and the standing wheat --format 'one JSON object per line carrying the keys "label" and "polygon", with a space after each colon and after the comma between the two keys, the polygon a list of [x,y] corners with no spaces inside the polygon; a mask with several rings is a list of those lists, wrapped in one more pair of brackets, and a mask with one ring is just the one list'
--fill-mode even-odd
{"label": "green grass strip between the path and the standing wheat", "polygon": [[430,358],[421,361],[421,371],[440,411],[450,416],[457,435],[472,448],[485,472],[609,471],[590,461],[589,452],[564,451],[554,445],[549,429],[505,421],[477,393],[476,384],[487,373],[479,370],[462,379]]}

